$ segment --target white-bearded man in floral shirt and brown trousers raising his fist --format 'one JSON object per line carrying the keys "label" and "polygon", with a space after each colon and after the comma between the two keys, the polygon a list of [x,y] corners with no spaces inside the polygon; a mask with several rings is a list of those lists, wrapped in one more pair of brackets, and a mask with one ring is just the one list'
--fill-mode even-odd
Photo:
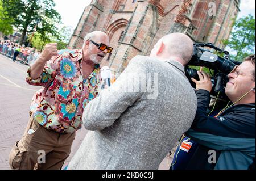
{"label": "white-bearded man in floral shirt and brown trousers raising his fist", "polygon": [[11,169],[61,169],[69,156],[82,112],[98,95],[99,63],[112,52],[109,38],[95,31],[85,36],[80,50],[57,52],[47,44],[27,71],[30,85],[42,86],[30,107],[30,121],[11,150]]}

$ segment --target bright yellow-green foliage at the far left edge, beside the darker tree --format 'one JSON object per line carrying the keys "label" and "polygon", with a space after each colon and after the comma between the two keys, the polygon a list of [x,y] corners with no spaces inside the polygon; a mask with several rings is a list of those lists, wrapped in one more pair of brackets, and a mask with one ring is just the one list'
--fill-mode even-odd
{"label": "bright yellow-green foliage at the far left edge, beside the darker tree", "polygon": [[10,35],[13,33],[13,19],[7,15],[7,11],[3,9],[3,2],[0,0],[0,32],[3,35]]}

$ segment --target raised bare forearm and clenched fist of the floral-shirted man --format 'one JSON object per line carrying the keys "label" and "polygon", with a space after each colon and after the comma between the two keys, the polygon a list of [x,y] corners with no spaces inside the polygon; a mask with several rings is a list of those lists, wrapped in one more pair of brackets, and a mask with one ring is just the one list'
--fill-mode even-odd
{"label": "raised bare forearm and clenched fist of the floral-shirted man", "polygon": [[46,44],[46,47],[44,47],[44,50],[40,54],[39,58],[30,67],[30,77],[32,79],[37,79],[40,77],[46,62],[51,60],[52,56],[57,55],[57,43]]}

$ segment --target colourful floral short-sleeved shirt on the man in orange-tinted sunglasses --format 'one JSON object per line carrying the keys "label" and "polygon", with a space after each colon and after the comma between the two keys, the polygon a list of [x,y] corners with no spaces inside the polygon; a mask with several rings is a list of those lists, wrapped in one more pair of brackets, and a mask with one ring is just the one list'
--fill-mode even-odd
{"label": "colourful floral short-sleeved shirt on the man in orange-tinted sunglasses", "polygon": [[82,50],[62,51],[46,63],[42,75],[35,80],[30,77],[28,68],[26,81],[43,86],[34,95],[30,107],[31,116],[43,127],[60,133],[81,128],[82,112],[98,95],[101,83],[100,65],[96,64],[89,77],[83,80],[81,61]]}

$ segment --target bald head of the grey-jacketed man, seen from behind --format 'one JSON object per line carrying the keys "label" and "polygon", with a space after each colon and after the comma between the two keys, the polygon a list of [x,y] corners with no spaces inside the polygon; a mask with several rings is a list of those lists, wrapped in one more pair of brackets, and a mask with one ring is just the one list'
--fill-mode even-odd
{"label": "bald head of the grey-jacketed man, seen from behind", "polygon": [[[171,33],[162,37],[154,49],[155,57],[165,60],[174,58],[186,65],[193,55],[193,41],[183,33]],[[152,54],[154,56],[154,52]]]}

